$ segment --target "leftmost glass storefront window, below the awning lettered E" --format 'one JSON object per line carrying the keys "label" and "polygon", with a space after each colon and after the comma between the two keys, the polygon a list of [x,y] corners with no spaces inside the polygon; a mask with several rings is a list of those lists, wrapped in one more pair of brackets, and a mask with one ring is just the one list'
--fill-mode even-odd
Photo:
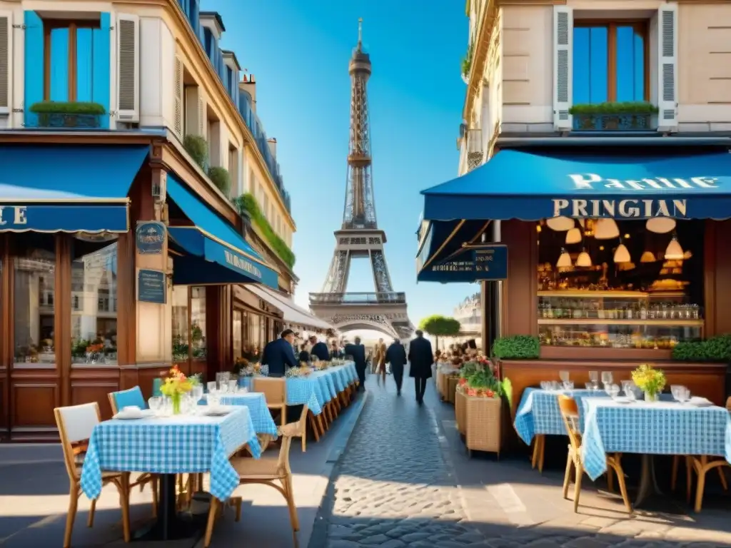
{"label": "leftmost glass storefront window, below the awning lettered E", "polygon": [[13,286],[15,363],[56,363],[56,237],[15,239]]}

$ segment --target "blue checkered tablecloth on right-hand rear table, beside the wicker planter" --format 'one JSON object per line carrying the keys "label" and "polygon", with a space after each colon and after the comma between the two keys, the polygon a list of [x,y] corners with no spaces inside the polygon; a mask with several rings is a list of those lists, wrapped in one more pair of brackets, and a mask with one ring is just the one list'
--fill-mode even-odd
{"label": "blue checkered tablecloth on right-hand rear table, beside the wicker planter", "polygon": [[581,400],[585,397],[607,397],[607,393],[591,390],[542,390],[526,388],[520,398],[518,411],[515,412],[515,431],[520,439],[530,445],[536,434],[567,435],[561,409],[558,408],[558,396],[567,395],[576,400],[579,408],[579,425],[583,429],[583,407]]}

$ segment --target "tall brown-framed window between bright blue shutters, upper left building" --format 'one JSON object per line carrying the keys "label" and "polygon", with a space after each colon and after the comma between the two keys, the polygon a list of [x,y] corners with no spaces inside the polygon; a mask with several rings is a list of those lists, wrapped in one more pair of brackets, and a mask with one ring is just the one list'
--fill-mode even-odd
{"label": "tall brown-framed window between bright blue shutters, upper left building", "polygon": [[99,20],[44,20],[43,28],[45,99],[93,101],[94,50],[102,33]]}

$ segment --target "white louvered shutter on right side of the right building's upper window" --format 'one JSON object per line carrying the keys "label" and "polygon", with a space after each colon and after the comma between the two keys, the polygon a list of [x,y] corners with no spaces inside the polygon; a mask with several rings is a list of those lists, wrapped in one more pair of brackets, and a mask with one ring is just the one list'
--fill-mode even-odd
{"label": "white louvered shutter on right side of the right building's upper window", "polygon": [[657,129],[667,132],[678,128],[678,4],[663,4],[657,20]]}

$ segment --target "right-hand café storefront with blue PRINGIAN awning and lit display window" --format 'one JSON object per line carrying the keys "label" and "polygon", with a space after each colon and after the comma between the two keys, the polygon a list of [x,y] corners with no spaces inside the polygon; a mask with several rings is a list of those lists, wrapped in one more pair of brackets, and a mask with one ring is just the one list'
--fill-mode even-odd
{"label": "right-hand caf\u00e9 storefront with blue PRINGIAN awning and lit display window", "polygon": [[[504,149],[422,194],[418,279],[490,280],[483,340],[539,340],[534,359],[502,362],[516,405],[558,370],[583,386],[589,370],[619,381],[641,363],[724,404],[727,365],[673,351],[731,333],[727,146]],[[474,272],[491,243],[507,248],[500,276]]]}

